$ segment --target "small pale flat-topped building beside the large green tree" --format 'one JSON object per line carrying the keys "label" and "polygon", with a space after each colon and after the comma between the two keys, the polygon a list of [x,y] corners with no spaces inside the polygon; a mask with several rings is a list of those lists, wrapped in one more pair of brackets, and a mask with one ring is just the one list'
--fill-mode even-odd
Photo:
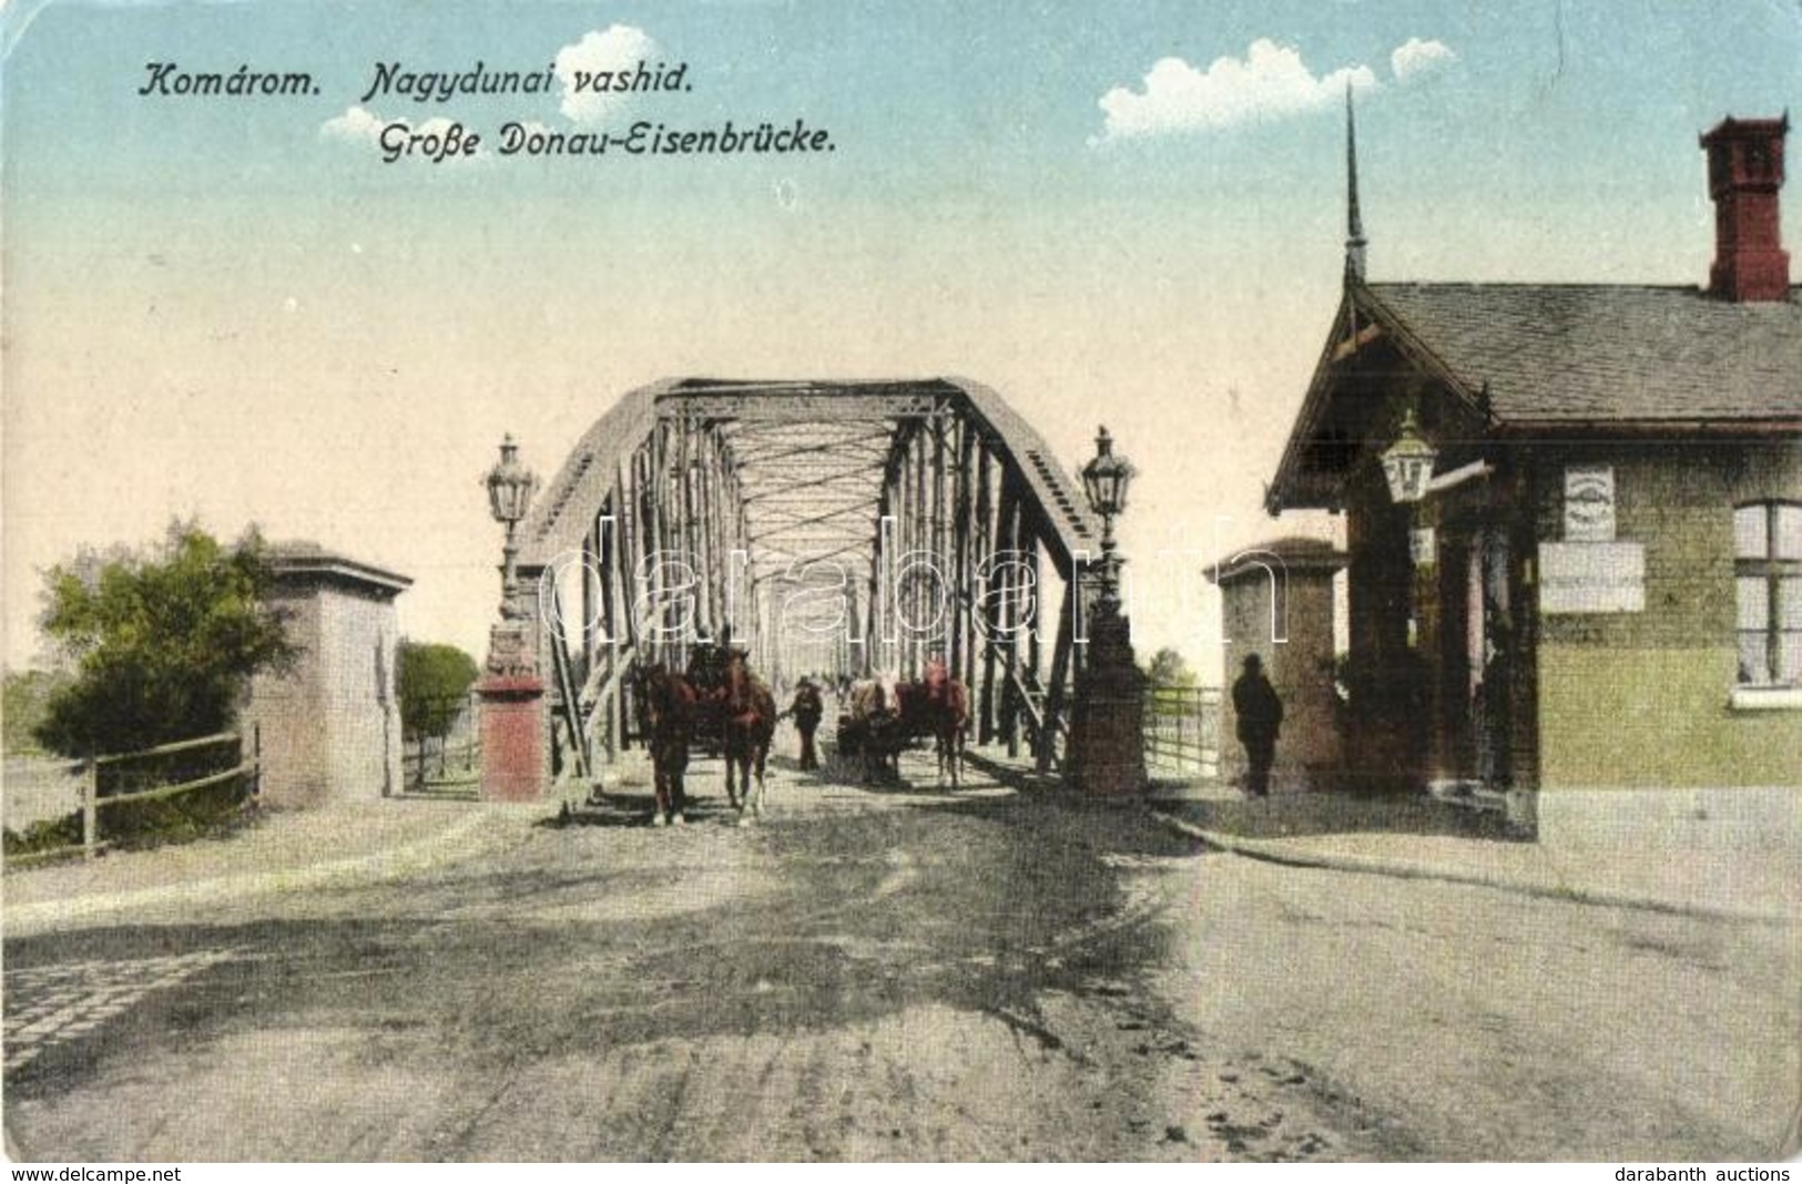
{"label": "small pale flat-topped building beside the large green tree", "polygon": [[301,658],[250,683],[243,726],[263,746],[268,806],[324,806],[400,789],[395,597],[413,580],[315,542],[270,548],[272,602],[288,611]]}

